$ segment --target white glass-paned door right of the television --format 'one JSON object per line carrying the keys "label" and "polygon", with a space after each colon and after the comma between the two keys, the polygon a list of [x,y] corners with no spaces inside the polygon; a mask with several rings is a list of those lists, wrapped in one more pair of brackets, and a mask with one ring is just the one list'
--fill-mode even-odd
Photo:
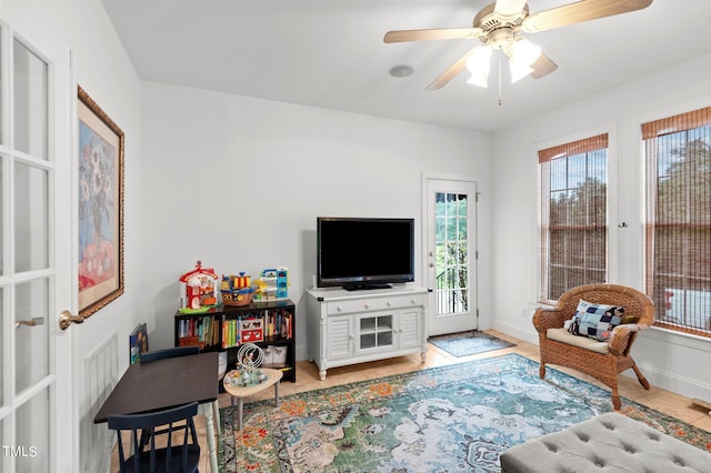
{"label": "white glass-paned door right of the television", "polygon": [[428,335],[477,329],[477,184],[424,179]]}

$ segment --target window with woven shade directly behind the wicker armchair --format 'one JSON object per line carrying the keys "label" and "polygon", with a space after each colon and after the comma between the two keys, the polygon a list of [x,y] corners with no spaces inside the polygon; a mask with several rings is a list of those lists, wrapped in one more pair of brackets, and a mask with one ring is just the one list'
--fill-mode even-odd
{"label": "window with woven shade directly behind the wicker armchair", "polygon": [[539,151],[541,302],[608,279],[608,134]]}

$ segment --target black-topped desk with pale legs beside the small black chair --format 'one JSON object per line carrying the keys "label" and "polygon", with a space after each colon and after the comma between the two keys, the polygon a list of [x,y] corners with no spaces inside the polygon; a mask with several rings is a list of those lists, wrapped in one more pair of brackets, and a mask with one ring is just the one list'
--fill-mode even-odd
{"label": "black-topped desk with pale legs beside the small black chair", "polygon": [[109,415],[141,414],[197,401],[206,416],[210,469],[217,472],[212,416],[214,413],[219,425],[218,364],[217,352],[132,364],[99,409],[93,422],[107,422]]}

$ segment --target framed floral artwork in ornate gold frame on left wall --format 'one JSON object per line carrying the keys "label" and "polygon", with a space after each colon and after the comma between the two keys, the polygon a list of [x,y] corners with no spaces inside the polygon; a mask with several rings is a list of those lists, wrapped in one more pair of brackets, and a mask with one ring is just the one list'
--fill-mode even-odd
{"label": "framed floral artwork in ornate gold frame on left wall", "polygon": [[79,315],[123,294],[123,132],[79,87]]}

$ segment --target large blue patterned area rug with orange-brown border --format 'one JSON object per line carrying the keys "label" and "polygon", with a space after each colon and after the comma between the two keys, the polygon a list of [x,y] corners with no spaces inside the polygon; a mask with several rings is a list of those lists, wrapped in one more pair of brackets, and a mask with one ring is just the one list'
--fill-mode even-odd
{"label": "large blue patterned area rug with orange-brown border", "polygon": [[[507,449],[612,410],[610,393],[518,354],[221,410],[224,472],[499,472]],[[711,433],[622,400],[621,413],[711,449]]]}

